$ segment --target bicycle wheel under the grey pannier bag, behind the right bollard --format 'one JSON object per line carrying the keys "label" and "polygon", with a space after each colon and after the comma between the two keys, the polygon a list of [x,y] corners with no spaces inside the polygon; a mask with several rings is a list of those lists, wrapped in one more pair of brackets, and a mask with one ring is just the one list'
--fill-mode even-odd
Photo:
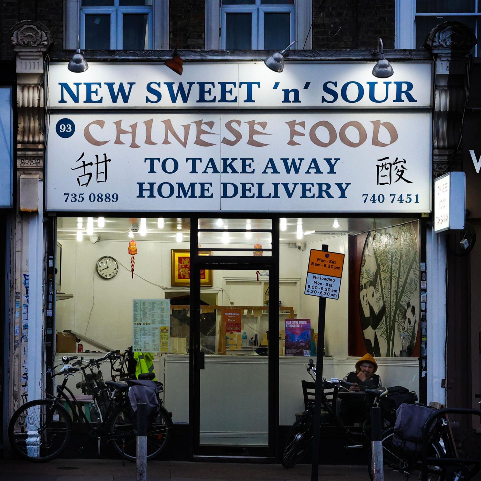
{"label": "bicycle wheel under the grey pannier bag, behind the right bollard", "polygon": [[[384,479],[386,481],[405,481],[421,479],[421,455],[407,458],[401,450],[392,443],[394,428],[382,433],[382,457]],[[432,441],[428,450],[429,457],[443,457],[444,450],[437,441]],[[371,450],[367,461],[367,470],[371,481],[374,479],[371,469]],[[428,481],[443,481],[444,469],[439,466],[428,466]]]}

